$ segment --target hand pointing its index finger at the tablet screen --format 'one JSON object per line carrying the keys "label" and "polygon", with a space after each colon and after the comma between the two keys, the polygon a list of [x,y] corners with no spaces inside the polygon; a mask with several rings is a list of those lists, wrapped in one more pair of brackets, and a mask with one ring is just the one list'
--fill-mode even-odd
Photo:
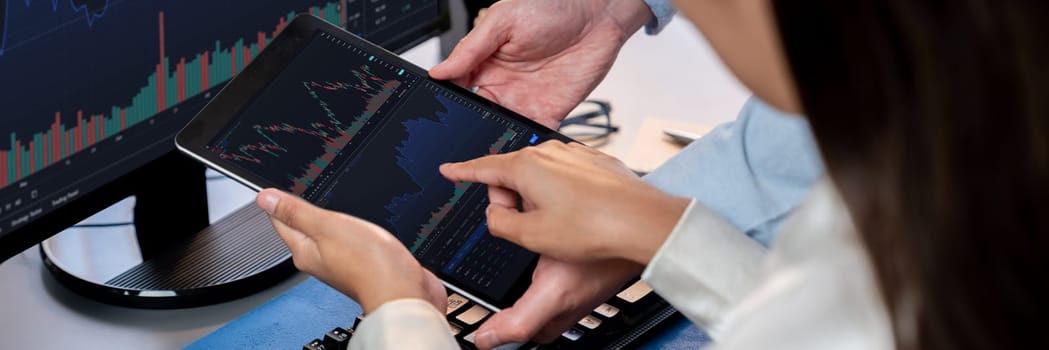
{"label": "hand pointing its index finger at the tablet screen", "polygon": [[443,165],[441,173],[489,185],[492,235],[565,261],[647,264],[689,203],[645,183],[618,159],[575,143],[552,140]]}

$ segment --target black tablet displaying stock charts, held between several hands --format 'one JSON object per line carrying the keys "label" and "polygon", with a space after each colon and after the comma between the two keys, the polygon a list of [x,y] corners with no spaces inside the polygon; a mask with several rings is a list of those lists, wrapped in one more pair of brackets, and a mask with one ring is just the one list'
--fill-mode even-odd
{"label": "black tablet displaying stock charts, held between several hands", "polygon": [[548,139],[570,141],[305,15],[176,146],[256,191],[283,189],[383,226],[449,288],[499,310],[531,283],[537,256],[489,234],[484,184],[437,168]]}

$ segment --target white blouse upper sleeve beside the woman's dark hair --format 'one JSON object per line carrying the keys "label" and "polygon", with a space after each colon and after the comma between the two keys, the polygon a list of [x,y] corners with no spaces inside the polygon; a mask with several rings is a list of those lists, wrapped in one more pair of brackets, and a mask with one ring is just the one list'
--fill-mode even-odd
{"label": "white blouse upper sleeve beside the woman's dark hair", "polygon": [[715,349],[891,350],[863,243],[830,182],[784,224],[765,280],[723,321]]}

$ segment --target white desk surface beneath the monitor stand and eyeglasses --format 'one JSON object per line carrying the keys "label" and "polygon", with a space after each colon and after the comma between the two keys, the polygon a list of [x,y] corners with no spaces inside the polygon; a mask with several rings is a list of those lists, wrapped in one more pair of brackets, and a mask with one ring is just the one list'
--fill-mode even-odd
{"label": "white desk surface beneath the monitor stand and eyeglasses", "polygon": [[[405,56],[429,67],[437,62],[437,41],[431,40]],[[635,36],[594,91],[592,97],[612,102],[613,122],[621,127],[601,150],[623,156],[648,116],[706,126],[731,121],[748,95],[691,24],[678,18],[657,37]],[[230,180],[209,181],[212,218],[252,198],[251,191]],[[100,216],[127,217],[128,204],[117,204]],[[100,304],[65,289],[45,271],[34,247],[0,265],[0,348],[180,348],[303,279],[298,274],[260,293],[213,306],[130,309]]]}

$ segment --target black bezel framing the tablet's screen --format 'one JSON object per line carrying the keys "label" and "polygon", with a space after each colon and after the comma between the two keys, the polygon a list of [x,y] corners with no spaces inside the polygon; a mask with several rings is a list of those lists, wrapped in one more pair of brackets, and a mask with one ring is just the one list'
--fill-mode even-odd
{"label": "black bezel framing the tablet's screen", "polygon": [[[227,176],[248,185],[255,191],[265,188],[280,188],[277,183],[249,173],[240,167],[219,158],[215,153],[210,152],[207,146],[217,136],[222,129],[236,117],[244,108],[250,106],[254,97],[262,93],[270,83],[279,75],[283,69],[294,61],[301,49],[309,43],[317,31],[324,31],[336,38],[346,41],[370,54],[374,54],[386,62],[399,65],[405,70],[415,73],[424,79],[446,88],[464,99],[475,103],[487,110],[492,111],[502,117],[510,118],[529,128],[530,131],[542,134],[550,139],[561,141],[573,141],[571,138],[557,133],[532,119],[529,119],[510,109],[496,105],[495,103],[481,97],[467,89],[464,89],[448,81],[437,81],[429,78],[426,69],[423,69],[397,54],[371,44],[366,40],[357,37],[338,26],[311,15],[300,15],[292,21],[288,26],[277,38],[271,42],[265,49],[258,54],[244,69],[233,78],[230,83],[219,91],[211,102],[194,116],[194,118],[175,137],[176,147],[208,165],[210,168],[223,173]],[[532,271],[538,261],[538,256],[529,263],[529,267],[514,282],[500,300],[484,298],[483,293],[472,288],[452,284],[440,270],[432,270],[442,282],[450,289],[466,294],[471,300],[493,310],[500,310],[513,305],[520,298],[532,281]]]}

